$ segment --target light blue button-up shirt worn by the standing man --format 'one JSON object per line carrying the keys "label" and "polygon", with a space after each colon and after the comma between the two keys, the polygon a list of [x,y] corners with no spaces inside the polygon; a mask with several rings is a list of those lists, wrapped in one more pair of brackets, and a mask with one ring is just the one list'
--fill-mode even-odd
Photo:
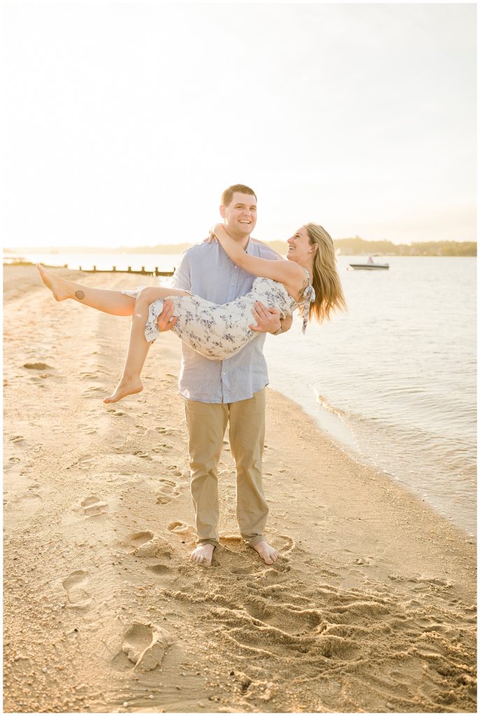
{"label": "light blue button-up shirt worn by the standing man", "polygon": [[[249,241],[246,253],[276,260],[268,246]],[[218,241],[200,243],[183,252],[173,274],[172,286],[191,291],[207,301],[226,304],[248,294],[255,276],[239,269]],[[254,323],[254,317],[251,317]],[[182,342],[182,364],[178,390],[188,400],[209,403],[237,402],[251,398],[269,382],[259,333],[239,353],[223,361],[208,360]]]}

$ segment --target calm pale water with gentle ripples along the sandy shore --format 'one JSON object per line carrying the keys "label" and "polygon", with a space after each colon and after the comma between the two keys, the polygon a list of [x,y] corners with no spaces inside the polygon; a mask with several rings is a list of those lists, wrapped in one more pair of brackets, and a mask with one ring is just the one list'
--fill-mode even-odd
{"label": "calm pale water with gentle ripples along the sandy shore", "polygon": [[[178,255],[29,255],[70,268],[169,271]],[[348,313],[267,337],[270,384],[362,459],[476,531],[476,259],[339,257]],[[364,261],[365,258],[359,258]]]}

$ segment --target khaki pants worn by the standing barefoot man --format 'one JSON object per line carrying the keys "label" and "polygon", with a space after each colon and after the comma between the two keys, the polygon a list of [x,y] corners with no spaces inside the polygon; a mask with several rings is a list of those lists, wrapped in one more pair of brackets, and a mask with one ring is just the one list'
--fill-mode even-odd
{"label": "khaki pants worn by the standing barefoot man", "polygon": [[191,492],[197,544],[219,544],[217,465],[227,422],[236,467],[236,521],[244,541],[264,540],[269,508],[261,486],[265,439],[265,389],[233,403],[185,401],[190,450]]}

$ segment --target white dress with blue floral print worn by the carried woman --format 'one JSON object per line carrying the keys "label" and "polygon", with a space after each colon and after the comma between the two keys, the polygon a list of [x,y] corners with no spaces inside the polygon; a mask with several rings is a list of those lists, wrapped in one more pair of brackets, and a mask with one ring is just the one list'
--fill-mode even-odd
{"label": "white dress with blue floral print worn by the carried woman", "polygon": [[[287,294],[283,284],[272,279],[257,278],[251,291],[245,296],[239,296],[228,304],[213,304],[211,301],[201,299],[199,296],[169,296],[173,302],[173,316],[178,320],[173,326],[173,332],[196,350],[203,357],[211,360],[224,360],[231,358],[253,339],[257,334],[249,329],[254,323],[251,309],[256,301],[261,301],[269,308],[276,308],[282,317],[292,314],[299,307],[303,311],[303,332],[307,326],[307,317],[310,301],[315,300],[315,291],[310,283],[300,304]],[[138,291],[123,291],[124,294],[135,297]],[[148,342],[158,338],[157,319],[163,311],[163,300],[158,299],[150,304],[148,319],[145,326],[145,338]]]}

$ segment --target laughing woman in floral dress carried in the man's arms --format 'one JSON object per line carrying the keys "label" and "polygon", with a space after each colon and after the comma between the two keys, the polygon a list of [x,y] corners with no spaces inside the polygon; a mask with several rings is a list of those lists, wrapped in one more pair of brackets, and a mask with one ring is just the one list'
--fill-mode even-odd
{"label": "laughing woman in floral dress carried in the man's arms", "polygon": [[207,241],[221,243],[227,256],[241,269],[254,274],[251,291],[228,304],[212,304],[188,291],[152,287],[140,291],[90,289],[73,281],[60,279],[37,264],[43,283],[57,301],[77,299],[99,311],[116,316],[133,316],[127,359],[115,392],[105,403],[122,400],[143,390],[140,372],[150,342],[158,336],[157,320],[163,310],[163,299],[173,300],[173,325],[183,342],[211,360],[224,360],[238,353],[256,335],[249,329],[251,308],[262,301],[290,314],[302,311],[303,332],[307,320],[322,322],[335,309],[345,309],[345,298],[335,267],[332,238],[322,226],[306,224],[288,240],[287,261],[269,261],[249,256],[234,241],[222,224],[217,224]]}

